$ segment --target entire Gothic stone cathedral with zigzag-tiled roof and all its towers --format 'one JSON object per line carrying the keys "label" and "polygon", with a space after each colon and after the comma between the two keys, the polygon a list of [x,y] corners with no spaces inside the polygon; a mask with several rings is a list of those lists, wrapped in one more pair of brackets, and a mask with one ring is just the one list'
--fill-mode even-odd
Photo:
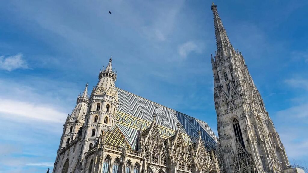
{"label": "entire Gothic stone cathedral with zigzag-tiled roof and all its towers", "polygon": [[[68,115],[53,173],[293,173],[245,60],[212,4],[218,137],[209,125],[115,85],[112,58]],[[88,90],[91,93],[88,95]]]}

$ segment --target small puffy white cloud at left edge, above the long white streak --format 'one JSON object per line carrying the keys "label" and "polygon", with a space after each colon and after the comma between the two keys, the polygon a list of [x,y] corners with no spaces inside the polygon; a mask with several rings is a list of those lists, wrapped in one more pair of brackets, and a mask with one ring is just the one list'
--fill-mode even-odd
{"label": "small puffy white cloud at left edge, above the long white streak", "polygon": [[0,56],[0,69],[7,71],[27,69],[28,65],[22,57],[22,54],[16,54],[9,57]]}

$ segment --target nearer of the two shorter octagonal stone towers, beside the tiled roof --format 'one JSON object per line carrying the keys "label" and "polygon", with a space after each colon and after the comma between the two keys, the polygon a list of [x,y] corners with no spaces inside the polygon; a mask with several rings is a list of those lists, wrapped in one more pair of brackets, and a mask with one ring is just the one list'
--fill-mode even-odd
{"label": "nearer of the two shorter octagonal stone towers, beside the tiled roof", "polygon": [[118,107],[118,91],[115,88],[117,74],[112,70],[112,58],[106,69],[99,72],[99,82],[93,87],[83,127],[83,154],[91,149],[104,129],[115,125]]}

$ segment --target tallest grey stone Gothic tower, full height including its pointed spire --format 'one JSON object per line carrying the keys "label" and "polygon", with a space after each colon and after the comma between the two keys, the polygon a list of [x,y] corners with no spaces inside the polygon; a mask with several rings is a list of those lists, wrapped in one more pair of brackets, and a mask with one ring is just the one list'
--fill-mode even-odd
{"label": "tallest grey stone Gothic tower, full height including its pointed spire", "polygon": [[289,161],[241,52],[234,50],[212,4],[217,51],[212,57],[222,172],[282,172]]}

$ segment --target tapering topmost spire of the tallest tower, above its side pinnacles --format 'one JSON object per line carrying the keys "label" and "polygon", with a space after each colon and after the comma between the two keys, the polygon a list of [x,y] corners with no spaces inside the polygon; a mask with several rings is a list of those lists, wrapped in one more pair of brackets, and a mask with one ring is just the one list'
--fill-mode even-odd
{"label": "tapering topmost spire of the tallest tower, above its side pinnacles", "polygon": [[225,48],[232,47],[230,40],[228,38],[227,32],[222,25],[221,19],[218,15],[217,6],[212,3],[212,11],[214,16],[214,27],[215,27],[215,37],[217,50],[225,50]]}

